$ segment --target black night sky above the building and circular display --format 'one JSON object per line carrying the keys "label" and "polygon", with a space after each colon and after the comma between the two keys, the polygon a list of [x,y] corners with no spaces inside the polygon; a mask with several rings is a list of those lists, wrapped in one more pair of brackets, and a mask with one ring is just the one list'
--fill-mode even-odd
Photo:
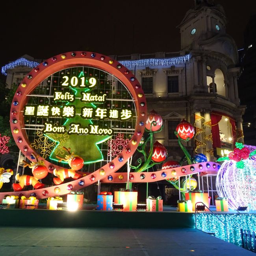
{"label": "black night sky above the building and circular display", "polygon": [[[255,13],[252,2],[215,0],[224,7],[226,31],[238,48],[243,47],[243,31]],[[193,0],[63,3],[1,3],[1,67],[24,54],[47,59],[76,50],[106,55],[179,51],[180,32],[176,26],[194,6]]]}

